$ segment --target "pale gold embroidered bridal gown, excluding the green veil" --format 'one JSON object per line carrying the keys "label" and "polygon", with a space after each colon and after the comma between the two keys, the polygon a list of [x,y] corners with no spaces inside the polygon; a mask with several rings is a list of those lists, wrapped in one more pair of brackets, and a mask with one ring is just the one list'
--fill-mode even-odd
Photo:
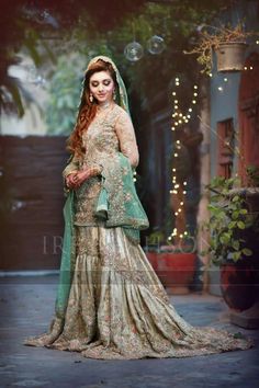
{"label": "pale gold embroidered bridal gown, excluding the green veil", "polygon": [[[93,119],[83,141],[87,166],[105,168],[117,151],[132,166],[138,163],[132,122],[119,105]],[[74,159],[64,175],[75,169]],[[48,332],[23,343],[102,360],[188,357],[252,347],[251,339],[195,328],[180,317],[140,244],[122,227],[106,228],[97,219],[100,190],[98,175],[76,191],[76,263],[65,318],[54,316]]]}

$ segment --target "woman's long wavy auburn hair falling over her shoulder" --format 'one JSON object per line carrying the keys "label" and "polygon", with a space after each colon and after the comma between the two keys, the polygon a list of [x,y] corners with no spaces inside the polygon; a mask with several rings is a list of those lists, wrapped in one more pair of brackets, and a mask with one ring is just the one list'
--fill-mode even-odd
{"label": "woman's long wavy auburn hair falling over her shoulder", "polygon": [[108,71],[112,77],[115,88],[117,89],[116,73],[110,62],[102,59],[98,59],[92,64],[86,71],[85,79],[82,82],[81,100],[78,107],[78,115],[74,130],[71,132],[69,138],[67,139],[67,150],[76,155],[79,158],[83,157],[86,149],[82,145],[82,134],[88,129],[89,125],[93,121],[97,114],[98,101],[93,98],[90,102],[90,89],[89,81],[92,75],[100,71]]}

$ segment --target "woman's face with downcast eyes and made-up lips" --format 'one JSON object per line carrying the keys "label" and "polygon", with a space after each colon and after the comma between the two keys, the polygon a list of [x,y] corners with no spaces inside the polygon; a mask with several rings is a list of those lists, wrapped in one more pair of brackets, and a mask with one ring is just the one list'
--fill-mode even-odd
{"label": "woman's face with downcast eyes and made-up lips", "polygon": [[112,101],[114,88],[114,82],[109,71],[98,71],[90,77],[90,93],[92,93],[98,103]]}

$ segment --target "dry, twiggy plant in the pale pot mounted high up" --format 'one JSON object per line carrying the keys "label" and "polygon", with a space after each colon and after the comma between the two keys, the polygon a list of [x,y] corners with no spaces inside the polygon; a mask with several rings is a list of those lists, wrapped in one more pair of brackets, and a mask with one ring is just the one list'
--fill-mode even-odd
{"label": "dry, twiggy plant in the pale pot mounted high up", "polygon": [[247,38],[257,33],[246,32],[241,22],[235,27],[207,27],[212,32],[201,32],[196,46],[184,54],[198,55],[196,60],[203,66],[201,72],[207,75],[212,72],[213,53],[216,54],[217,71],[241,71],[248,46]]}

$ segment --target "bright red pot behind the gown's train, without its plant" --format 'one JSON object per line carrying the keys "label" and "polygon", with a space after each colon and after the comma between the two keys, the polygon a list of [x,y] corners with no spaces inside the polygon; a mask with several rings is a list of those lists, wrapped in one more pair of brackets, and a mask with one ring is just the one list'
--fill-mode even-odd
{"label": "bright red pot behind the gown's train, without its plant", "polygon": [[195,253],[154,253],[147,256],[164,287],[171,294],[187,294],[195,271]]}

